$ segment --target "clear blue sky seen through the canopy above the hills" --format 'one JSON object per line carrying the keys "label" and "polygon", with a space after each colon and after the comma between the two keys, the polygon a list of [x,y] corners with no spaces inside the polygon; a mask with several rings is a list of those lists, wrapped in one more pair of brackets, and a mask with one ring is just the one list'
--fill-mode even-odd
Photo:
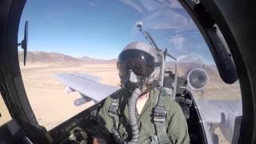
{"label": "clear blue sky seen through the canopy above the hills", "polygon": [[129,42],[146,41],[135,26],[142,21],[158,45],[176,57],[193,54],[212,62],[194,22],[174,0],[28,0],[20,40],[26,20],[30,51],[117,58]]}

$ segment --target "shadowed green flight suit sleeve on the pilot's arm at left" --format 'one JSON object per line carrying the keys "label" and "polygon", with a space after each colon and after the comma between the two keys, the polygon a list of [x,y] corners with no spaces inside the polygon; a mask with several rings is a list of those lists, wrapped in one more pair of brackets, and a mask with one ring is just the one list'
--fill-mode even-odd
{"label": "shadowed green flight suit sleeve on the pilot's arm at left", "polygon": [[99,110],[97,118],[98,126],[94,134],[94,137],[102,138],[106,142],[110,142],[111,129],[113,127],[113,122],[108,112],[110,102],[111,98],[106,98],[106,101],[104,102],[101,110]]}

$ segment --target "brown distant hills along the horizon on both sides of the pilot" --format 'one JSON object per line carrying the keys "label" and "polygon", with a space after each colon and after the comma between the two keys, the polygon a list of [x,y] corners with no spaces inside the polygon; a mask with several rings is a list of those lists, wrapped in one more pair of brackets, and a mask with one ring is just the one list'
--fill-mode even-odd
{"label": "brown distant hills along the horizon on both sides of the pilot", "polygon": [[[20,62],[23,62],[23,52],[18,52],[18,58]],[[193,57],[183,58],[178,64],[179,75],[183,76],[188,70],[193,68],[202,68],[202,61],[198,59],[192,59]],[[191,61],[190,61],[191,60]],[[28,51],[26,62],[84,62],[84,63],[115,63],[117,59],[103,60],[90,57],[74,58],[70,55],[54,53],[54,52],[43,52],[43,51]],[[199,64],[198,64],[198,63]],[[166,68],[174,68],[175,62],[166,62]],[[219,79],[219,74],[216,66],[206,65],[206,71],[210,75],[211,79]]]}

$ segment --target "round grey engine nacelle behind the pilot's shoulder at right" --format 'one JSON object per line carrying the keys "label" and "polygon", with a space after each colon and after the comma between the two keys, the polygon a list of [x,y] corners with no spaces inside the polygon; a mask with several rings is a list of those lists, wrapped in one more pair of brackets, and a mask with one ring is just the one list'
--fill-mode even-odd
{"label": "round grey engine nacelle behind the pilot's shoulder at right", "polygon": [[187,75],[187,85],[192,90],[203,90],[208,81],[208,74],[202,68],[194,68]]}

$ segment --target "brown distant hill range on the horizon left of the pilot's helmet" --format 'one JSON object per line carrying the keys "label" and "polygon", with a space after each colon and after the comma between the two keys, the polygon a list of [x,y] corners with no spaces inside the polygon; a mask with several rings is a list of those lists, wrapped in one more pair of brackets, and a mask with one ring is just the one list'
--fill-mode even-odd
{"label": "brown distant hill range on the horizon left of the pilot's helmet", "polygon": [[[23,62],[23,52],[18,51],[19,62]],[[26,62],[90,62],[90,63],[106,63],[116,62],[116,59],[102,60],[90,57],[74,58],[70,55],[44,52],[44,51],[28,51],[26,54]]]}

